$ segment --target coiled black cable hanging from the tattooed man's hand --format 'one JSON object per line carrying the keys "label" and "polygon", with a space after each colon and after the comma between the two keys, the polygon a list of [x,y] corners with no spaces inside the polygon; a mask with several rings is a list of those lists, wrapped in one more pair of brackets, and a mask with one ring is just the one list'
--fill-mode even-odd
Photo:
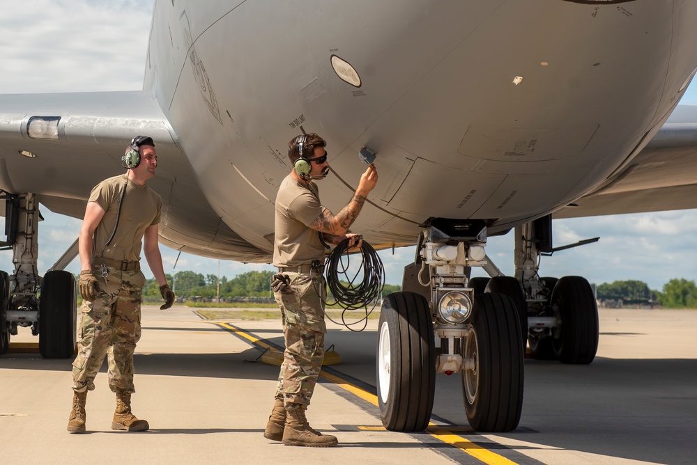
{"label": "coiled black cable hanging from the tattooed man's hand", "polygon": [[[368,315],[372,313],[372,309],[375,308],[383,292],[383,287],[385,287],[385,269],[378,253],[364,240],[360,247],[362,261],[360,267],[355,269],[355,273],[353,273],[351,271],[352,255],[348,253],[349,241],[350,239],[344,239],[331,251],[325,262],[324,271],[327,285],[336,301],[335,304],[344,308],[342,322],[344,326],[351,329],[352,324],[364,320],[367,324]],[[353,256],[357,257],[358,255],[359,253],[355,253]],[[353,274],[353,276],[349,276],[349,274]],[[344,276],[343,281],[347,284],[342,283],[339,275]],[[358,281],[359,277],[360,281]],[[371,304],[373,307],[369,312],[368,306]],[[365,308],[365,317],[358,322],[346,323],[346,310],[358,310],[358,308]],[[334,321],[328,315],[327,317]]]}

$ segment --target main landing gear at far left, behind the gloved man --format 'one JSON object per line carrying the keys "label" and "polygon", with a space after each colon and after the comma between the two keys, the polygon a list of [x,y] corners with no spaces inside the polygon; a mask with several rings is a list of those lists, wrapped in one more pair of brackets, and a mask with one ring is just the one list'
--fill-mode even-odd
{"label": "main landing gear at far left, behind the gloved man", "polygon": [[41,356],[69,358],[75,354],[75,277],[60,269],[47,271],[43,278],[38,276],[36,195],[3,193],[2,198],[6,200],[7,240],[0,247],[12,249],[15,274],[0,271],[0,354],[8,351],[17,327],[24,326],[31,327],[33,336],[39,336]]}

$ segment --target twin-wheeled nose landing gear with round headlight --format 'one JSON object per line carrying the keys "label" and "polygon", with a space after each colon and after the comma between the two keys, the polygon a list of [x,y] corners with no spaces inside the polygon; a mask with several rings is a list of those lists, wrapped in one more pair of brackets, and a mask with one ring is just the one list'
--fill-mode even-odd
{"label": "twin-wheeled nose landing gear with round headlight", "polygon": [[466,415],[477,431],[518,426],[523,406],[519,310],[505,294],[476,294],[469,280],[471,266],[487,265],[486,234],[484,221],[432,219],[420,235],[415,262],[407,267],[405,292],[385,299],[377,384],[387,429],[427,427],[436,372],[461,372]]}

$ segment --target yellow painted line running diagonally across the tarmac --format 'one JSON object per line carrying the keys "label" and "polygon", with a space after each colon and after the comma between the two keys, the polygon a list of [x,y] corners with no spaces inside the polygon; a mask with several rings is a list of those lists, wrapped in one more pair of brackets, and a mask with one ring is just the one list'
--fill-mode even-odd
{"label": "yellow painted line running diagonally across the tarmac", "polygon": [[[217,326],[221,326],[224,329],[227,329],[231,331],[232,333],[235,333],[237,336],[240,336],[241,338],[245,338],[252,342],[252,344],[258,345],[259,347],[263,347],[264,349],[271,349],[271,350],[278,350],[279,347],[276,347],[275,345],[271,344],[270,342],[266,340],[262,340],[260,338],[257,338],[254,336],[254,334],[245,331],[244,329],[238,328],[237,326],[233,326],[232,324],[229,323],[215,323]],[[368,391],[365,391],[365,389],[360,388],[358,386],[355,386],[355,384],[351,384],[351,382],[347,381],[346,379],[343,379],[342,377],[339,377],[337,375],[333,375],[332,373],[327,372],[326,370],[321,370],[319,372],[319,376],[323,377],[327,381],[331,381],[332,383],[336,384],[337,386],[343,388],[344,390],[352,393],[353,395],[357,395],[360,397],[362,400],[365,400],[367,402],[370,402],[374,406],[378,407],[378,396],[369,393]],[[364,431],[382,431],[386,429],[384,427],[367,427],[367,426],[359,426],[358,429],[364,430]],[[452,430],[457,430],[457,431],[462,431],[463,428],[459,427],[454,427]],[[507,459],[506,457],[502,457],[498,454],[495,454],[494,452],[491,452],[491,450],[488,450],[487,448],[483,448],[479,444],[475,444],[472,441],[468,441],[468,439],[465,439],[462,436],[458,436],[457,434],[454,434],[450,428],[445,428],[443,425],[436,425],[435,423],[429,423],[429,427],[426,429],[426,432],[438,439],[438,441],[443,441],[444,443],[450,444],[451,446],[454,446],[463,452],[466,452],[468,455],[471,455],[477,460],[480,460],[481,462],[484,462],[485,464],[489,465],[509,465],[509,464],[514,464],[516,462],[512,462],[510,459]]]}

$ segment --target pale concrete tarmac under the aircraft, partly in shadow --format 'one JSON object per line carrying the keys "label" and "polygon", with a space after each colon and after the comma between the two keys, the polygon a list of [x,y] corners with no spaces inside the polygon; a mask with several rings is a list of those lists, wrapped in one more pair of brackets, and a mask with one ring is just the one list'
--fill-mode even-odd
{"label": "pale concrete tarmac under the aircraft, partly in shadow", "polygon": [[[148,432],[111,429],[105,368],[87,397],[86,434],[66,431],[70,360],[0,356],[3,464],[694,464],[697,463],[697,311],[600,310],[590,365],[526,359],[521,422],[477,434],[459,375],[436,375],[431,421],[418,434],[385,431],[374,405],[376,320],[353,333],[329,324],[342,362],[323,371],[308,418],[336,448],[263,438],[278,367],[256,361],[282,346],[280,319],[217,322],[175,306],[143,308],[133,411]],[[38,342],[20,329],[12,342]],[[254,342],[256,341],[256,342]]]}

